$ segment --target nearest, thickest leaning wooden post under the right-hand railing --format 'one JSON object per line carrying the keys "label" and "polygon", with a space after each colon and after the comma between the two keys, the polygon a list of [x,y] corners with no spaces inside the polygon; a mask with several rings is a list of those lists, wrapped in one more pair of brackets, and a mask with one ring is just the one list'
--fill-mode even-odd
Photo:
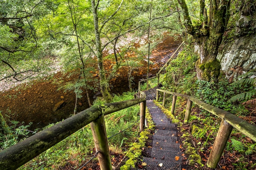
{"label": "nearest, thickest leaning wooden post under the right-hand railing", "polygon": [[227,144],[227,140],[229,139],[229,135],[233,129],[233,126],[227,123],[225,119],[222,119],[220,123],[220,128],[218,130],[216,139],[213,144],[213,148],[211,150],[209,159],[207,161],[207,166],[210,168],[216,168],[220,157],[222,155],[223,150]]}

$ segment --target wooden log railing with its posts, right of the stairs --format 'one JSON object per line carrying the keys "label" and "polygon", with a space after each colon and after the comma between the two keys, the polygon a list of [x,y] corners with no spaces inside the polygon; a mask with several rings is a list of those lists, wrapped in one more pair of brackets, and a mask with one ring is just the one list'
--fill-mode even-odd
{"label": "wooden log railing with its posts, right of the stairs", "polygon": [[[225,110],[222,110],[220,108],[216,108],[214,106],[211,106],[210,104],[204,103],[194,97],[191,97],[189,95],[183,95],[180,93],[174,93],[170,91],[165,91],[161,89],[157,89],[157,99],[159,99],[158,95],[159,92],[164,93],[164,96],[166,94],[173,95],[173,103],[172,103],[172,113],[174,113],[174,107],[176,102],[176,97],[183,97],[185,99],[188,99],[187,107],[186,107],[186,113],[184,118],[184,123],[186,124],[187,121],[189,121],[189,116],[191,113],[191,106],[192,102],[197,104],[198,106],[204,108],[208,112],[212,113],[213,115],[216,115],[222,119],[220,123],[220,128],[218,130],[216,139],[213,143],[213,148],[211,150],[211,153],[209,155],[209,159],[207,161],[207,166],[210,168],[216,168],[218,165],[218,162],[220,160],[220,157],[222,155],[222,152],[227,144],[227,141],[229,139],[229,135],[231,134],[231,131],[234,128],[236,128],[238,131],[242,132],[247,137],[251,138],[253,141],[256,142],[256,126],[253,124],[250,124],[249,122],[237,117],[236,115],[233,115],[232,113],[229,113]],[[165,99],[164,99],[165,100]],[[164,101],[163,101],[164,105]]]}

